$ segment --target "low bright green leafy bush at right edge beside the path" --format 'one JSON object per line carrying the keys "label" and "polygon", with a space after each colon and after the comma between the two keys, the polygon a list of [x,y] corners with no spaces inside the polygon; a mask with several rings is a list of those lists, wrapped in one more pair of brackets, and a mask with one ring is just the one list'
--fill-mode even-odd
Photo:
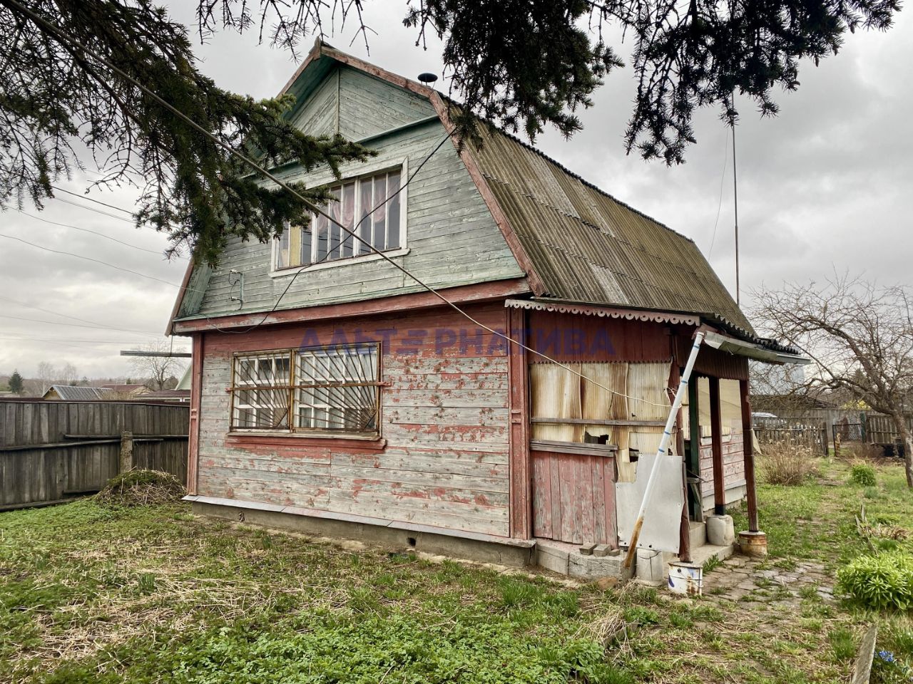
{"label": "low bright green leafy bush at right edge beside the path", "polygon": [[837,571],[837,585],[862,606],[907,610],[913,606],[913,556],[861,555]]}

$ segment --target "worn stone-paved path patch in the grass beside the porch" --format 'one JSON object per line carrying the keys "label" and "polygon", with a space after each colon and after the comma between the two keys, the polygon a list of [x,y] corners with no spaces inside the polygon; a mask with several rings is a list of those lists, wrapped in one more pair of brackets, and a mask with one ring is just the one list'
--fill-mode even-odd
{"label": "worn stone-paved path patch in the grass beside the porch", "polygon": [[834,579],[824,565],[803,561],[792,569],[774,565],[773,559],[734,555],[704,573],[704,596],[730,601],[798,606],[803,597],[834,600]]}

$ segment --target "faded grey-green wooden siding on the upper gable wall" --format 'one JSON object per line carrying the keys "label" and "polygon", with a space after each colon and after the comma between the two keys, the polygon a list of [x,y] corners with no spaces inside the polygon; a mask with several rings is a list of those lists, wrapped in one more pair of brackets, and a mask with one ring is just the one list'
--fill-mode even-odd
{"label": "faded grey-green wooden siding on the upper gable wall", "polygon": [[[337,85],[337,78],[340,83]],[[339,116],[342,133],[352,138],[392,130],[433,113],[431,105],[401,88],[376,78],[342,68],[331,71],[302,106],[299,120],[309,132],[322,133],[327,117],[336,116],[334,94],[342,88]],[[313,123],[318,129],[307,127]],[[427,121],[415,128],[366,143],[377,156],[364,163],[344,165],[343,177],[407,163],[407,175],[418,168],[445,135],[439,121]],[[313,187],[334,181],[327,169],[310,173],[286,169],[283,180],[301,181]],[[394,257],[428,285],[451,287],[471,285],[524,275],[503,235],[477,192],[453,144],[446,141],[436,151],[405,191],[408,253]],[[185,302],[180,316],[216,316],[271,309],[292,274],[271,276],[271,244],[232,240],[219,268],[208,278],[195,282],[205,287],[200,302]],[[238,295],[235,269],[244,275],[244,302]],[[301,273],[282,296],[280,308],[319,306],[345,301],[422,292],[425,288],[381,260],[339,262],[330,268]]]}

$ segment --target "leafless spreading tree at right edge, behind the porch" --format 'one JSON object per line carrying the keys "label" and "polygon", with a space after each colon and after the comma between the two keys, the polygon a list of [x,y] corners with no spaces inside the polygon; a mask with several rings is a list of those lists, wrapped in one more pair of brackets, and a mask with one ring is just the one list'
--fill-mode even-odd
{"label": "leafless spreading tree at right edge, behind the porch", "polygon": [[837,275],[824,285],[787,284],[755,296],[759,323],[812,358],[817,368],[805,381],[808,389],[845,390],[893,420],[913,487],[913,435],[905,415],[913,390],[908,288]]}

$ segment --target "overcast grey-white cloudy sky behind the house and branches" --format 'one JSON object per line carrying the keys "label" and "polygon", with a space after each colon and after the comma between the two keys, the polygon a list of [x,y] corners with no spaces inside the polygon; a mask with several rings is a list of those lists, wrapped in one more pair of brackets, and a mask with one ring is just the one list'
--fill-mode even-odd
{"label": "overcast grey-white cloudy sky behind the house and branches", "polygon": [[[195,2],[169,5],[176,18],[193,23]],[[414,47],[415,31],[402,26],[403,0],[371,0],[366,7],[366,21],[377,32],[370,38],[370,55],[360,38],[349,46],[351,31],[328,42],[409,78],[421,71],[441,73],[436,46],[426,52]],[[202,70],[223,88],[257,98],[275,95],[296,65],[281,50],[257,46],[256,38],[218,34],[198,48]],[[805,65],[799,91],[780,96],[777,119],[761,120],[743,108],[736,131],[743,305],[751,288],[821,280],[834,270],[864,273],[884,284],[913,284],[908,123],[913,89],[903,85],[911,62],[913,21],[901,13],[887,34],[847,36],[840,55],[818,68]],[[717,111],[704,111],[697,121],[698,145],[687,150],[686,164],[667,168],[625,157],[622,136],[634,93],[631,70],[616,71],[596,93],[593,109],[582,113],[581,133],[563,140],[549,132],[536,144],[606,192],[692,238],[734,293],[729,130]],[[60,187],[81,193],[96,177],[89,172]],[[90,196],[129,210],[135,192]],[[166,261],[163,236],[137,231],[126,213],[76,201],[111,215],[60,201],[47,202],[43,212],[32,207],[26,212],[70,227],[12,210],[0,213],[0,234],[45,248],[0,238],[0,374],[18,368],[31,376],[39,362],[48,361],[72,363],[89,378],[129,375],[118,351],[161,339],[186,260]],[[187,340],[175,338],[174,347],[184,350]]]}

